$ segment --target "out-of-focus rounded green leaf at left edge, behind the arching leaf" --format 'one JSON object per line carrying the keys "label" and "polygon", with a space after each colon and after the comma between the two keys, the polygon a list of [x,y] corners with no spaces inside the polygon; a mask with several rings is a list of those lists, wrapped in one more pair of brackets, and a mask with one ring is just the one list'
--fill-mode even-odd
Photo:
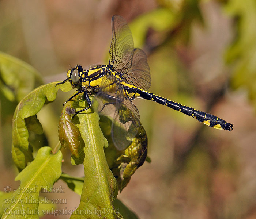
{"label": "out-of-focus rounded green leaf at left edge, behind the arching leaf", "polygon": [[0,91],[11,102],[20,101],[42,84],[38,71],[26,62],[0,52]]}

